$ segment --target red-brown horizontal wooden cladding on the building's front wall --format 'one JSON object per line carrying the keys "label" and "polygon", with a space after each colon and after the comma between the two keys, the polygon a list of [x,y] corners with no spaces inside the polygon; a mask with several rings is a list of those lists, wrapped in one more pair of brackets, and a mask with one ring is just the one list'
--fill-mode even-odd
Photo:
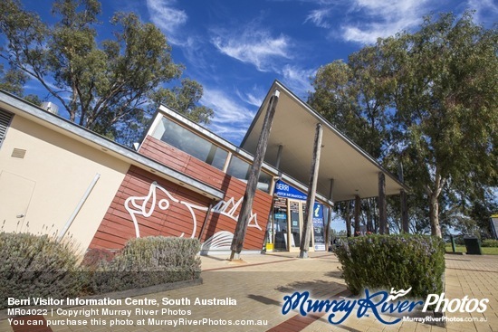
{"label": "red-brown horizontal wooden cladding on the building's front wall", "polygon": [[[183,235],[198,238],[211,203],[215,208],[206,221],[201,242],[206,242],[218,232],[235,232],[241,205],[239,201],[244,197],[244,182],[156,138],[146,138],[139,152],[224,191],[224,202],[210,202],[202,194],[131,166],[90,248],[122,248],[125,242],[137,236],[135,222],[140,237]],[[271,204],[271,195],[257,191],[253,205],[255,218],[247,229],[244,249],[262,248]]]}

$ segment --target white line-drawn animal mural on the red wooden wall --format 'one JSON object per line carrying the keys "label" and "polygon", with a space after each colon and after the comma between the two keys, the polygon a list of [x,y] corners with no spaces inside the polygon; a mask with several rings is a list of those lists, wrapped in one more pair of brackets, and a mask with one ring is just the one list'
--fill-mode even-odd
{"label": "white line-drawn animal mural on the red wooden wall", "polygon": [[[163,198],[158,200],[157,197],[157,191],[161,191],[163,194],[166,194],[168,198]],[[236,203],[235,203],[235,198],[232,197],[230,198],[227,202],[225,201],[220,201],[215,206],[213,206],[213,209],[211,210],[212,213],[220,213],[222,215],[225,215],[229,217],[230,219],[234,220],[235,223],[237,222],[238,215],[235,215],[236,210],[240,204],[242,204],[242,201],[244,200],[244,197],[241,197]],[[182,204],[184,205],[189,213],[192,215],[192,234],[190,235],[191,238],[193,238],[196,235],[196,229],[197,229],[197,221],[196,221],[196,213],[194,210],[199,210],[199,211],[207,211],[206,206],[201,206],[201,205],[196,205],[196,204],[191,204],[185,201],[180,201],[177,198],[173,197],[172,194],[168,192],[168,190],[161,185],[158,185],[156,181],[150,184],[148,188],[148,194],[147,196],[129,196],[124,203],[124,207],[126,211],[128,211],[129,215],[131,216],[131,219],[133,220],[133,224],[135,225],[135,234],[139,238],[140,237],[140,230],[139,230],[139,222],[137,221],[137,215],[141,215],[144,218],[150,217],[156,207],[158,207],[160,210],[168,210],[170,206],[170,202],[174,202],[177,204]],[[249,219],[248,227],[254,227],[257,228],[260,231],[263,231],[263,229],[260,227],[257,221],[257,214],[251,212],[251,217]],[[217,240],[214,241],[216,237],[216,234],[222,233],[222,237],[226,239],[226,231],[224,232],[217,232],[213,237],[211,237],[207,242],[211,241],[213,244],[219,243],[219,235]],[[232,234],[231,232],[228,232]],[[182,232],[179,237],[183,237],[185,235],[184,232]],[[234,236],[233,234],[231,235],[232,237]],[[225,244],[224,244],[225,245]],[[213,248],[213,247],[211,247]]]}

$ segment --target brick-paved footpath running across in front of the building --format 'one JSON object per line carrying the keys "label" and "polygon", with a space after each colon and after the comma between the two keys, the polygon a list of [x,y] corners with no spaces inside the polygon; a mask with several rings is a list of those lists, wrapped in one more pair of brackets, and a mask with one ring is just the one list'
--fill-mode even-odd
{"label": "brick-paved footpath running across in front of the building", "polygon": [[[340,325],[330,325],[328,315],[312,314],[302,317],[297,311],[282,314],[283,297],[294,291],[308,290],[312,299],[340,299],[350,296],[344,280],[340,278],[340,264],[335,255],[313,252],[311,258],[302,260],[297,253],[271,253],[244,255],[244,262],[226,261],[226,256],[202,257],[203,284],[184,289],[173,289],[133,299],[158,301],[158,306],[111,306],[123,312],[103,313],[102,307],[72,309],[98,309],[98,315],[84,315],[69,319],[86,320],[90,326],[51,325],[28,327],[28,323],[52,319],[64,322],[67,316],[45,315],[24,325],[11,326],[0,321],[0,332],[56,332],[56,331],[498,331],[498,256],[446,255],[445,298],[489,299],[488,308],[482,314],[454,313],[446,317],[476,320],[447,322],[446,327],[427,323],[401,321],[388,326],[373,315],[369,318],[349,317]],[[196,299],[225,299],[232,305],[196,304]],[[165,300],[166,299],[166,300]],[[227,299],[227,300],[226,300]],[[163,301],[166,301],[163,304]],[[236,304],[235,304],[236,302]],[[109,308],[109,307],[108,307]],[[135,311],[147,309],[147,312]],[[160,313],[161,310],[166,313]],[[154,310],[158,310],[157,314]],[[397,317],[382,317],[392,321]],[[151,320],[149,320],[151,319]],[[128,320],[128,321],[127,321]],[[485,321],[484,321],[485,320]],[[104,325],[105,321],[105,325]],[[174,324],[177,327],[160,325]],[[195,322],[202,325],[193,325]],[[233,325],[221,325],[231,322]],[[20,322],[22,323],[22,322]],[[67,323],[67,321],[66,321]],[[110,324],[113,324],[110,327]],[[145,323],[140,325],[140,323]],[[129,325],[127,325],[129,324]],[[180,325],[181,324],[181,325]],[[235,325],[238,324],[238,325]],[[245,324],[245,325],[243,325]],[[259,324],[259,325],[248,325]]]}

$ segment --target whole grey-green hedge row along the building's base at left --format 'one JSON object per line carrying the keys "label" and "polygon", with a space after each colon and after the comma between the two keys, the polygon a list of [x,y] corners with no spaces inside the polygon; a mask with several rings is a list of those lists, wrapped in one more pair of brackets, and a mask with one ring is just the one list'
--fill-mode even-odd
{"label": "whole grey-green hedge row along the building's base at left", "polygon": [[81,261],[71,241],[0,232],[0,309],[7,298],[75,298],[196,280],[198,251],[196,239],[153,236],[129,240],[118,253],[90,250]]}

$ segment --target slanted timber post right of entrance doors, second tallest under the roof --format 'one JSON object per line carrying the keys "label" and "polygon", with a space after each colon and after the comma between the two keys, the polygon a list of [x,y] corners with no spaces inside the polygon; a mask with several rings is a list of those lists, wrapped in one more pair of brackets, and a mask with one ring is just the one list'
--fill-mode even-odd
{"label": "slanted timber post right of entrance doors, second tallest under the roof", "polygon": [[304,221],[302,225],[300,245],[301,252],[299,254],[300,258],[308,258],[308,250],[310,249],[311,227],[313,225],[313,208],[315,204],[318,171],[320,168],[322,136],[323,128],[321,128],[321,123],[317,123],[313,143],[313,157],[311,160],[310,184],[308,185],[308,197],[306,198],[306,213],[304,213]]}

